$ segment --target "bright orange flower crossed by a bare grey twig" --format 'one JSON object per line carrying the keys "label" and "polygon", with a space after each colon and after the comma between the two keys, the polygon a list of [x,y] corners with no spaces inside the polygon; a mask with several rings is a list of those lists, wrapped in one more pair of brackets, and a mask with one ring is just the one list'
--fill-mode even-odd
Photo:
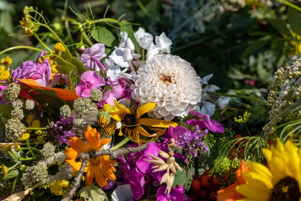
{"label": "bright orange flower crossed by a bare grey twig", "polygon": [[[90,151],[98,151],[101,147],[110,142],[110,139],[102,139],[100,140],[100,134],[96,131],[96,129],[92,129],[92,127],[88,127],[85,131],[85,137],[87,143],[84,143],[77,137],[73,137],[69,140],[70,147],[66,149],[65,154],[67,156],[66,162],[70,163],[74,170],[79,170],[81,166],[81,162],[75,162],[75,159],[79,152],[90,152]],[[107,185],[107,181],[116,180],[116,176],[113,173],[115,171],[113,164],[116,161],[110,160],[109,156],[97,156],[89,160],[85,167],[85,181],[87,185],[92,185],[93,177],[95,176],[95,180],[100,187]]]}

